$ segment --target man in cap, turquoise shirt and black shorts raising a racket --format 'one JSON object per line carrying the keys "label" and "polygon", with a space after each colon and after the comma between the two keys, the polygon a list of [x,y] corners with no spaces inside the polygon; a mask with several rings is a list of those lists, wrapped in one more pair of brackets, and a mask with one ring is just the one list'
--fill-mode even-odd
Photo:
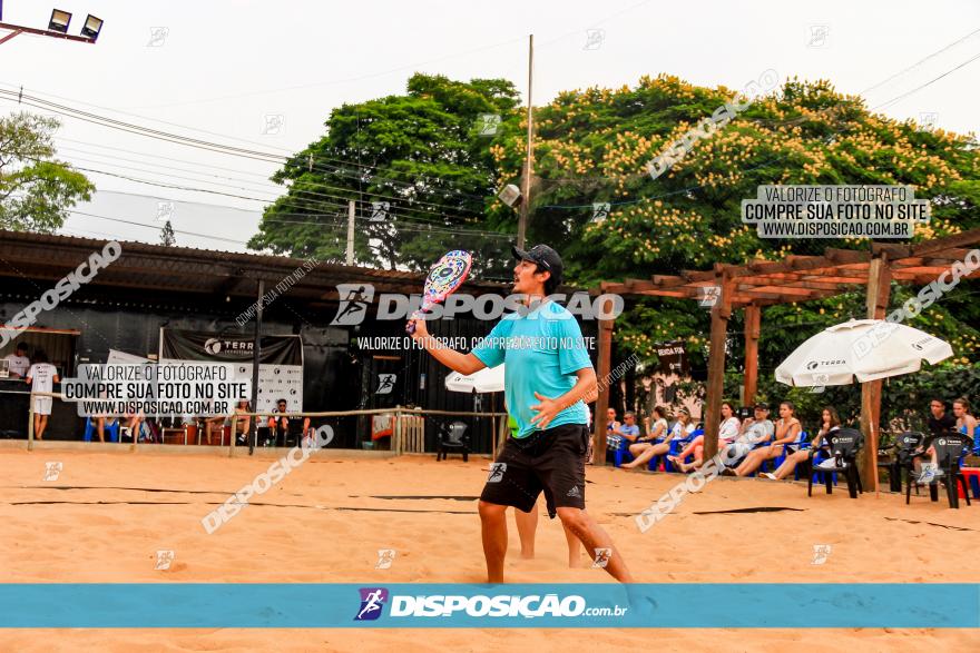
{"label": "man in cap, turquoise shirt and black shorts raising a racket", "polygon": [[585,454],[589,431],[582,397],[596,390],[596,372],[571,314],[546,297],[561,283],[562,263],[547,245],[513,248],[513,291],[522,310],[507,315],[470,354],[441,345],[415,319],[412,337],[440,363],[464,375],[507,363],[504,394],[518,432],[507,439],[480,496],[483,554],[491,583],[503,581],[506,509],[535,508],[543,492],[556,515],[591,556],[611,551],[605,568],[633,582],[606,532],[586,512]]}

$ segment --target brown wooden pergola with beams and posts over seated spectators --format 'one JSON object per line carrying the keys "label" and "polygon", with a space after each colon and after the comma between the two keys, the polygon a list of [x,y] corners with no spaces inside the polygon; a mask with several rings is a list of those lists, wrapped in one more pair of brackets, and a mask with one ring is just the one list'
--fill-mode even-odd
{"label": "brown wooden pergola with beams and posts over seated spectators", "polygon": [[[962,261],[980,245],[980,229],[928,240],[917,245],[873,243],[870,250],[827,248],[823,256],[787,256],[781,261],[747,265],[715,264],[710,270],[682,271],[676,276],[655,275],[650,279],[602,281],[601,293],[624,298],[644,296],[703,299],[705,287],[721,288],[712,307],[710,352],[708,356],[707,407],[704,413],[705,458],[717,453],[725,374],[725,339],[733,310],[745,311],[745,396],[755,400],[758,382],[758,335],[762,307],[834,297],[863,286],[868,318],[883,319],[891,281],[924,286]],[[980,269],[963,278],[980,278]],[[612,320],[599,324],[599,378],[608,378],[612,345]],[[600,384],[596,406],[596,449],[606,451],[607,384]],[[868,437],[862,457],[862,479],[878,489],[878,442],[881,416],[881,380],[861,384],[861,428]],[[605,454],[595,464],[605,464]]]}

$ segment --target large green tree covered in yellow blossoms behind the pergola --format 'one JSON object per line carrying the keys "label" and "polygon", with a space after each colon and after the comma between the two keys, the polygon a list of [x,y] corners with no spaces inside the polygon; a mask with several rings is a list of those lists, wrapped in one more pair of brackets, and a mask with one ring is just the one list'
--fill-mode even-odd
{"label": "large green tree covered in yellow blossoms behind the pergola", "polygon": [[[840,95],[826,81],[786,81],[654,179],[649,161],[734,95],[663,75],[645,77],[635,88],[562,92],[536,109],[539,180],[529,240],[559,248],[569,278],[584,286],[713,263],[820,254],[825,247],[868,247],[856,239],[756,237],[741,221],[741,201],[765,184],[908,184],[933,207],[932,221],[918,229],[917,240],[980,226],[980,155],[969,137],[873,113],[861,98]],[[499,184],[517,182],[526,142],[517,129],[494,148]],[[595,202],[610,204],[602,221],[594,220]],[[512,212],[499,201],[490,215],[512,225]],[[980,353],[980,313],[969,298],[971,287],[976,283],[963,283],[910,321],[949,337],[958,364]],[[894,304],[908,297],[908,289],[895,287],[892,295]],[[778,364],[824,326],[863,314],[862,293],[767,308],[759,344],[764,365]],[[617,320],[616,338],[623,355],[638,352],[646,362],[656,360],[655,343],[682,338],[697,367],[708,324],[707,311],[693,301],[649,299]],[[731,330],[732,359],[738,360],[737,320]]]}

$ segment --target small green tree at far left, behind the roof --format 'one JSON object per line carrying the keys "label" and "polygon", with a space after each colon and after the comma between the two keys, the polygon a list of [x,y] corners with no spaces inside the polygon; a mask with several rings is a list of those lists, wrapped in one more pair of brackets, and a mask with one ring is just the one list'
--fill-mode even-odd
{"label": "small green tree at far left, behind the roof", "polygon": [[95,186],[55,159],[53,118],[30,113],[0,117],[0,228],[50,234]]}

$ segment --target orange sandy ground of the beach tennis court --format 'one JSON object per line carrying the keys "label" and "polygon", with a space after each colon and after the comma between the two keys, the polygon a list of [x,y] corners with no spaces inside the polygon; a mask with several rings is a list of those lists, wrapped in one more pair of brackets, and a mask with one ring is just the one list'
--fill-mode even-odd
{"label": "orange sandy ground of the beach tennis court", "polygon": [[[50,446],[50,445],[49,445]],[[45,482],[45,463],[63,465]],[[272,458],[0,449],[0,582],[483,582],[476,499],[489,461],[314,457],[207,535],[200,518]],[[826,496],[805,485],[717,478],[640,534],[633,515],[676,475],[589,468],[589,512],[638,582],[980,582],[980,506]],[[161,489],[165,492],[151,492]],[[444,496],[453,498],[418,498]],[[389,498],[385,498],[389,497]],[[395,498],[390,498],[395,497]],[[48,503],[51,502],[51,503]],[[259,505],[264,504],[264,505]],[[710,514],[752,507],[776,512]],[[374,508],[339,509],[339,508]],[[406,511],[406,512],[395,512]],[[512,522],[511,522],[512,524]],[[558,522],[541,520],[538,555],[508,582],[606,582],[567,566]],[[832,545],[824,565],[813,546]],[[376,550],[398,552],[375,570]],[[176,563],[154,571],[155,552]],[[950,555],[950,552],[972,552]],[[587,561],[584,561],[587,562]],[[696,610],[696,606],[692,606]],[[780,610],[780,606],[773,606]],[[65,630],[0,632],[2,651],[770,651],[833,642],[850,651],[978,650],[962,630]]]}

